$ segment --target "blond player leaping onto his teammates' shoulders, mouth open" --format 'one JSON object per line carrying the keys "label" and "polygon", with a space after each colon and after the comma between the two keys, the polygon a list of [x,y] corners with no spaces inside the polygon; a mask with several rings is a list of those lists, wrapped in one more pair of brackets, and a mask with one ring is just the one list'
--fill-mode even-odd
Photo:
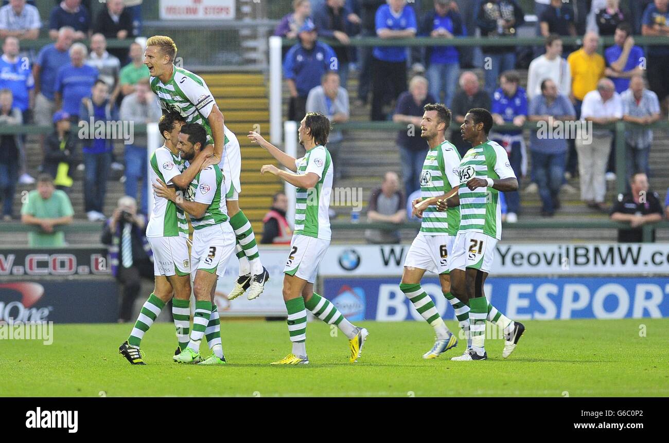
{"label": "blond player leaping onto his teammates' shoulders, mouth open", "polygon": [[[270,274],[260,263],[258,246],[251,223],[240,210],[239,194],[242,192],[240,174],[242,154],[240,142],[223,122],[223,114],[216,105],[207,84],[201,77],[187,69],[174,65],[177,45],[170,37],[154,35],[147,40],[144,64],[151,73],[151,90],[158,96],[163,112],[179,112],[188,123],[201,124],[207,131],[204,167],[218,164],[225,176],[227,189],[223,190],[225,205],[230,216],[230,225],[235,231],[235,251],[240,260],[240,276],[228,298],[234,299],[248,289],[248,299],[258,297]],[[213,146],[211,146],[213,144]],[[191,164],[183,173],[183,180],[175,182],[179,188],[187,188],[195,174],[200,172]]]}

